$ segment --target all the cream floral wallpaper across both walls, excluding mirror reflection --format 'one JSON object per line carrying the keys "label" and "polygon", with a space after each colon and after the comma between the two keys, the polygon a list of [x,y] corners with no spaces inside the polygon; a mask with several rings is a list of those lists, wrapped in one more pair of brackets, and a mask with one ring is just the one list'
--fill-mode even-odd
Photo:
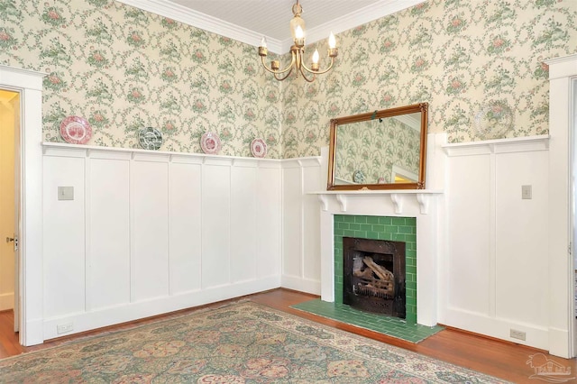
{"label": "all the cream floral wallpaper across both walls, excluding mirror reflection", "polygon": [[113,0],[0,0],[0,21],[0,63],[50,73],[46,141],[78,114],[89,144],[135,147],[153,126],[161,150],[200,152],[212,131],[221,154],[250,156],[261,137],[272,158],[318,155],[333,117],[420,102],[451,142],[508,119],[501,135],[546,133],[542,60],[577,51],[574,0],[429,0],[340,33],[334,70],[311,84],[272,80],[255,47]]}

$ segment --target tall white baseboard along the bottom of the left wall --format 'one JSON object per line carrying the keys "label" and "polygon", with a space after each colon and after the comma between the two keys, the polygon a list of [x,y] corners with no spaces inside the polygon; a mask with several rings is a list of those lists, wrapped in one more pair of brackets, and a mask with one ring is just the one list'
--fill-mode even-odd
{"label": "tall white baseboard along the bottom of the left wall", "polygon": [[180,309],[204,306],[206,304],[279,287],[279,277],[273,276],[266,279],[191,291],[169,297],[155,297],[140,302],[126,303],[120,306],[95,308],[90,312],[44,319],[42,325],[42,341],[67,336],[69,334],[78,334],[109,325],[122,324],[154,315],[166,314]]}

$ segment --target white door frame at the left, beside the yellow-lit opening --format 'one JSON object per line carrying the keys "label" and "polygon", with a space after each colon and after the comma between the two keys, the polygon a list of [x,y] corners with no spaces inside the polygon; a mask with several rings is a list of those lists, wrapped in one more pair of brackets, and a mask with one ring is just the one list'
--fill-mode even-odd
{"label": "white door frame at the left, beside the yellow-lit opening", "polygon": [[20,92],[20,334],[44,342],[42,308],[42,78],[45,73],[0,65],[0,87]]}

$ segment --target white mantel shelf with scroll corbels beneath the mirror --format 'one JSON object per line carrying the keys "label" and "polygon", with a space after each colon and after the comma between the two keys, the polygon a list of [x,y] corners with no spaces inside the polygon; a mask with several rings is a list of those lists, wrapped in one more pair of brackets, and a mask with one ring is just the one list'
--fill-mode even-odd
{"label": "white mantel shelf with scroll corbels beneath the mirror", "polygon": [[379,190],[344,190],[344,191],[316,191],[308,195],[316,195],[322,204],[323,211],[328,210],[329,197],[334,197],[341,206],[341,212],[346,212],[349,198],[353,197],[385,197],[389,196],[396,214],[403,213],[405,200],[416,198],[422,215],[428,214],[429,202],[432,196],[442,195],[437,189],[379,189]]}

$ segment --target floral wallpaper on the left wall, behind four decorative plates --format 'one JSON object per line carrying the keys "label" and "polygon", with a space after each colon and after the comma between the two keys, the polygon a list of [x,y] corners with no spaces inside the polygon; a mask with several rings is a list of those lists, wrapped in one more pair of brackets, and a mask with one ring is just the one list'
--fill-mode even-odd
{"label": "floral wallpaper on the left wall, behind four decorative plates", "polygon": [[161,151],[251,156],[255,138],[280,157],[279,83],[264,76],[257,49],[110,0],[0,0],[0,63],[50,75],[44,140],[62,142],[63,118],[93,127],[88,144],[138,147],[158,128]]}

